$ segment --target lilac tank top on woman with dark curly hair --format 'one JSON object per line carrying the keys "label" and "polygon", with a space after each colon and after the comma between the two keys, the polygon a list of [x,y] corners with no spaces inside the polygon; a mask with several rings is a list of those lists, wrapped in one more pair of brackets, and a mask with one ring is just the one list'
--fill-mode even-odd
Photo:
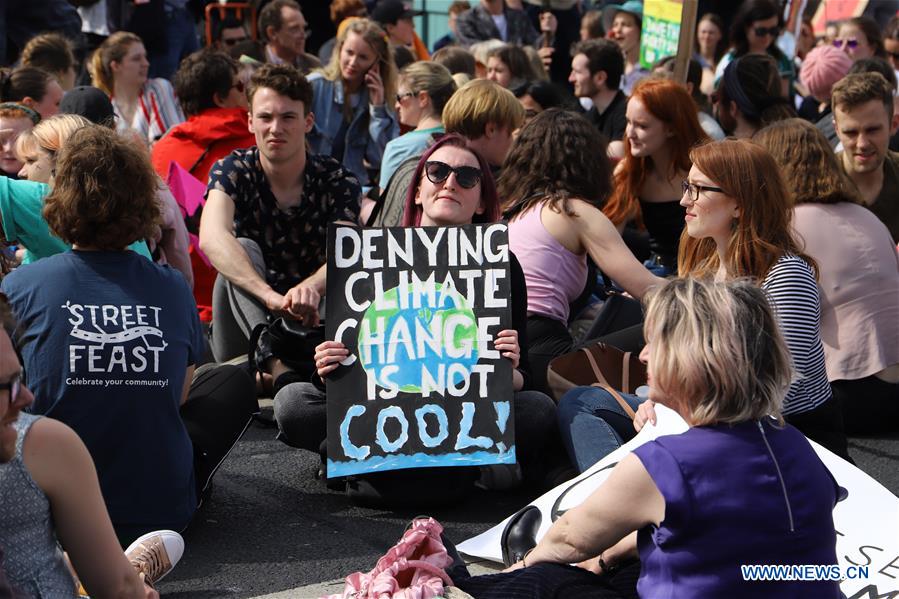
{"label": "lilac tank top on woman with dark curly hair", "polygon": [[587,283],[587,256],[556,241],[540,214],[541,202],[509,223],[509,247],[521,263],[528,286],[528,314],[568,322],[568,304]]}

